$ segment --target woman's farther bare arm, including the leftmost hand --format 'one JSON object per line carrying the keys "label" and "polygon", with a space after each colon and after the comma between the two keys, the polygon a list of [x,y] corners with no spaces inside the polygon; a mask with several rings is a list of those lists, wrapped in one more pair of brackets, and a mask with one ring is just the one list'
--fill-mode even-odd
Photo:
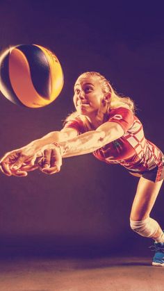
{"label": "woman's farther bare arm, including the leftmost hand", "polygon": [[74,128],[63,128],[61,131],[53,131],[44,137],[33,140],[26,146],[6,153],[0,160],[0,169],[7,176],[27,176],[26,170],[21,169],[28,165],[28,171],[36,169],[34,165],[36,155],[42,147],[52,142],[63,142],[75,138],[78,132]]}

